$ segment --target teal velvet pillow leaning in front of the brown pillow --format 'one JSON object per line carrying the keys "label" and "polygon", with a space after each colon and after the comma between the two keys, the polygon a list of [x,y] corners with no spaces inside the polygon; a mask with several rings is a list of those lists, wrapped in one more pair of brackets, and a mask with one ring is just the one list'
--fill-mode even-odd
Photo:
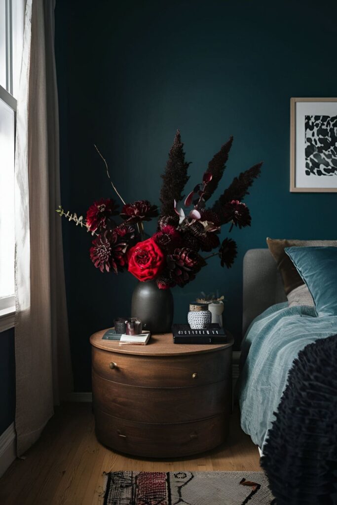
{"label": "teal velvet pillow leaning in front of the brown pillow", "polygon": [[286,247],[314,299],[317,316],[337,316],[337,247]]}

